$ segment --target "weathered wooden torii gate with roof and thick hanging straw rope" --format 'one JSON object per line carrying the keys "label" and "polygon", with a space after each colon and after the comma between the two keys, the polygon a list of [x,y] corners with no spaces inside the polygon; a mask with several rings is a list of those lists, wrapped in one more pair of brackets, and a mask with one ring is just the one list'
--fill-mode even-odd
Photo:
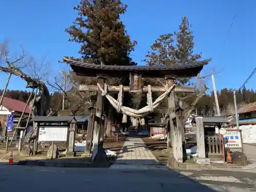
{"label": "weathered wooden torii gate with roof and thick hanging straw rope", "polygon": [[[143,117],[154,111],[160,102],[168,97],[168,113],[169,113],[169,133],[168,140],[173,148],[173,154],[177,162],[183,162],[182,151],[182,130],[183,122],[180,120],[180,114],[176,113],[177,103],[175,102],[175,93],[195,92],[194,87],[176,87],[176,78],[195,77],[203,69],[210,59],[202,61],[188,62],[185,64],[177,64],[172,66],[100,66],[91,65],[85,62],[79,62],[67,57],[63,57],[63,61],[70,64],[76,75],[97,77],[97,85],[81,85],[80,91],[97,91],[96,114],[93,129],[93,160],[101,160],[103,158],[103,138],[100,138],[100,133],[104,132],[102,121],[103,97],[109,100],[111,105],[117,112],[131,117]],[[106,84],[106,79],[109,77],[130,78],[130,86],[111,86]],[[152,87],[148,85],[143,87],[141,84],[142,77],[144,78],[165,78],[166,85],[163,87]],[[115,99],[109,92],[119,92],[118,98]],[[123,106],[123,92],[147,92],[147,106],[140,110],[134,110],[127,106]],[[152,100],[152,92],[161,92],[155,101]],[[87,138],[87,141],[92,138]],[[92,143],[91,143],[92,144]]]}

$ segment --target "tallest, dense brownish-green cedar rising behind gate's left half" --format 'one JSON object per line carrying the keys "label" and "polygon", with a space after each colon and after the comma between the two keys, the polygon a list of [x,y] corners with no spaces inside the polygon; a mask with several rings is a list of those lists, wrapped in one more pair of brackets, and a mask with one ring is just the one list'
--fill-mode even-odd
{"label": "tallest, dense brownish-green cedar rising behind gate's left half", "polygon": [[84,61],[96,65],[135,65],[130,53],[136,41],[131,41],[120,20],[126,8],[119,0],[81,0],[74,8],[79,16],[66,32],[70,41],[81,44],[79,53]]}

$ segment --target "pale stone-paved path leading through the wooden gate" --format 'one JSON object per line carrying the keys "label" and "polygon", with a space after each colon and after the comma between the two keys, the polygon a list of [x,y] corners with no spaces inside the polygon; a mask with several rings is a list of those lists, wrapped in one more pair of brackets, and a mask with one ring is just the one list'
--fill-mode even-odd
{"label": "pale stone-paved path leading through the wooden gate", "polygon": [[150,167],[167,169],[167,167],[159,164],[156,157],[147,149],[143,140],[135,137],[127,138],[122,150],[118,153],[118,158],[110,168],[148,169]]}

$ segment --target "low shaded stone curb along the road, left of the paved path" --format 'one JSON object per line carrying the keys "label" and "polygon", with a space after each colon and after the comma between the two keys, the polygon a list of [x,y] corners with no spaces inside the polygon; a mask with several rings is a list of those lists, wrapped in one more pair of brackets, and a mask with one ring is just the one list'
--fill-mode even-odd
{"label": "low shaded stone curb along the road, left of the paved path", "polygon": [[18,161],[16,165],[23,166],[43,166],[43,167],[110,167],[110,162],[65,162],[65,161],[42,161],[42,160],[23,160]]}

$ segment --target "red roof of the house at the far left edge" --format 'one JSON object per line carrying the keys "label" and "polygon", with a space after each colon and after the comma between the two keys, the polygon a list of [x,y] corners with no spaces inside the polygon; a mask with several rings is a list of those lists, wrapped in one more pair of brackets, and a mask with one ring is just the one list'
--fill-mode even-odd
{"label": "red roof of the house at the far left edge", "polygon": [[[4,97],[2,105],[4,106],[4,108],[9,110],[10,112],[22,113],[26,106],[26,103],[16,99]],[[1,109],[1,106],[0,106],[0,111],[1,110],[4,110],[4,109]],[[30,112],[30,107],[28,105],[24,113],[28,114],[29,112]]]}

